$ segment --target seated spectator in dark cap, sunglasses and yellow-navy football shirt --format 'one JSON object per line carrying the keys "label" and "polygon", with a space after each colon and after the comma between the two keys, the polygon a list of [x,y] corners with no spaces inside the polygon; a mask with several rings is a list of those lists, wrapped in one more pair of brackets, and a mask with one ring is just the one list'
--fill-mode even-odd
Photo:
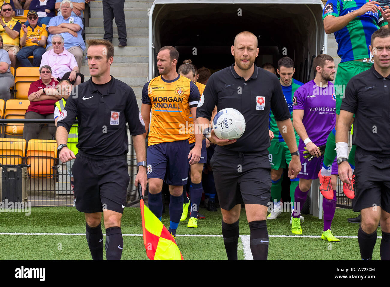
{"label": "seated spectator in dark cap, sunglasses and yellow-navy football shirt", "polygon": [[[28,11],[28,25],[22,24],[20,29],[20,49],[18,60],[23,67],[39,67],[44,52],[46,52],[46,39],[48,32],[45,24],[38,24],[38,14],[34,10]],[[33,64],[31,65],[28,56],[34,56]]]}

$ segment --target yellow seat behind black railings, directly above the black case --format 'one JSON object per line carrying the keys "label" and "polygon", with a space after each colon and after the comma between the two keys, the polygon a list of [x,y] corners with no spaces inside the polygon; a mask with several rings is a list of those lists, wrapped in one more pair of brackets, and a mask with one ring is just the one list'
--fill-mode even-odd
{"label": "yellow seat behind black railings, directly above the black case", "polygon": [[25,139],[0,139],[0,164],[22,164],[25,149]]}

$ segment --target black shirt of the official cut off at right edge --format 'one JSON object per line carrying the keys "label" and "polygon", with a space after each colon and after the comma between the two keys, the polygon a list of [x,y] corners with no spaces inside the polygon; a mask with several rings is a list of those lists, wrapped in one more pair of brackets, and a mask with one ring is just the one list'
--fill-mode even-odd
{"label": "black shirt of the official cut off at right edge", "polygon": [[390,76],[372,65],[349,80],[341,110],[355,113],[352,143],[372,153],[390,155]]}

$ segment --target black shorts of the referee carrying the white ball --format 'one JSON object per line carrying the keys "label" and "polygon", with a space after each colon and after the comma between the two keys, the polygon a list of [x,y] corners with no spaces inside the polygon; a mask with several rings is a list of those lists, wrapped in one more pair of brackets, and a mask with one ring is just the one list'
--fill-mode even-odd
{"label": "black shorts of the referee carrying the white ball", "polygon": [[268,206],[271,197],[271,165],[264,153],[230,152],[216,148],[210,160],[222,209],[241,203]]}

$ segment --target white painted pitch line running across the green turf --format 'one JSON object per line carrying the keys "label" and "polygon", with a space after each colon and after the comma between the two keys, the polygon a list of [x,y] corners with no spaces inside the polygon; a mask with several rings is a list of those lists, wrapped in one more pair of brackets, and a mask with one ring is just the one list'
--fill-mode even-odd
{"label": "white painted pitch line running across the green turf", "polygon": [[[0,232],[0,235],[69,235],[69,236],[85,236],[85,233],[27,233],[27,232]],[[106,236],[106,234],[103,234]],[[122,234],[123,236],[143,236],[142,234]],[[211,234],[177,234],[182,237],[222,237],[222,235]],[[250,235],[240,235],[241,241],[246,241]],[[268,237],[287,237],[287,238],[321,238],[318,235],[268,235]],[[338,238],[358,238],[357,236],[337,236]],[[382,238],[382,236],[377,236]],[[249,241],[248,241],[249,242]],[[243,242],[244,244],[244,242]],[[249,246],[249,245],[248,245]]]}

